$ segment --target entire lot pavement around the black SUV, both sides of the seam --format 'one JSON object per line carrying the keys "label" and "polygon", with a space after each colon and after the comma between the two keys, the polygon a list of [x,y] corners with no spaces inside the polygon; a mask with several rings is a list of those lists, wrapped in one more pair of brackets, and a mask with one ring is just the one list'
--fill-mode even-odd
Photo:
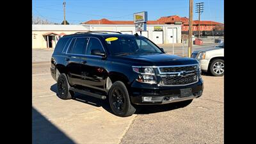
{"label": "entire lot pavement around the black SUV, both sides of the seam", "polygon": [[120,118],[104,100],[59,99],[49,67],[33,64],[33,143],[223,143],[223,77],[202,76],[202,97],[185,108],[145,106]]}

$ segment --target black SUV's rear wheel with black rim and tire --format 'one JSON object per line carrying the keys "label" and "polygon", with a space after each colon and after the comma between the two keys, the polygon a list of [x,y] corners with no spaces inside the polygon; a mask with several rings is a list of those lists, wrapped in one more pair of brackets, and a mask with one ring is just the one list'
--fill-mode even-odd
{"label": "black SUV's rear wheel with black rim and tire", "polygon": [[70,85],[67,81],[67,76],[65,74],[60,74],[57,81],[57,95],[60,99],[72,99],[74,97],[74,92],[70,89]]}

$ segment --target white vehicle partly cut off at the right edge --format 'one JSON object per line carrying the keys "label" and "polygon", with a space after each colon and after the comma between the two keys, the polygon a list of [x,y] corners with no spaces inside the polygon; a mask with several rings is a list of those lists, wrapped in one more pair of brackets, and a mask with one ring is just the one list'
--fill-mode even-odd
{"label": "white vehicle partly cut off at the right edge", "polygon": [[193,51],[191,58],[200,61],[202,71],[213,76],[224,75],[224,42],[216,47]]}

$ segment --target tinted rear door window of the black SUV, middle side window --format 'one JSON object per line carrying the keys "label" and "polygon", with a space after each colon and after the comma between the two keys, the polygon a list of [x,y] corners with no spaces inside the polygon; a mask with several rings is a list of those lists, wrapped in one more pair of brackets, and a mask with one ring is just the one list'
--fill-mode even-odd
{"label": "tinted rear door window of the black SUV, middle side window", "polygon": [[76,42],[70,49],[70,54],[85,54],[88,38],[76,38]]}

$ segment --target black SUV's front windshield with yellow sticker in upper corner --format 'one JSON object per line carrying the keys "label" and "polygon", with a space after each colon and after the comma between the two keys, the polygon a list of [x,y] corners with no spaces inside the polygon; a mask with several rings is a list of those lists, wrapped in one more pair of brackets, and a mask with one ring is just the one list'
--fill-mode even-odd
{"label": "black SUV's front windshield with yellow sticker in upper corner", "polygon": [[[112,38],[112,40],[111,40]],[[163,53],[156,45],[142,36],[118,36],[106,38],[111,54],[116,56],[127,54],[160,54]]]}

